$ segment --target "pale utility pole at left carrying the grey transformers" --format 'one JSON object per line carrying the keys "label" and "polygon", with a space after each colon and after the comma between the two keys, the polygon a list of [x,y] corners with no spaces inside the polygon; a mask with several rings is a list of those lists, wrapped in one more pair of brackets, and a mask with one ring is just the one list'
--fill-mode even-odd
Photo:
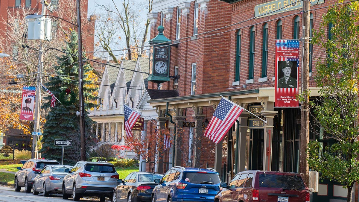
{"label": "pale utility pole at left carrying the grey transformers", "polygon": [[[41,15],[45,16],[46,13],[46,5],[44,1],[41,1]],[[34,110],[34,132],[40,131],[40,106],[41,106],[41,80],[42,80],[42,66],[43,66],[43,43],[44,40],[40,40],[39,46],[39,64],[37,65],[37,84],[36,84],[36,98],[35,98],[35,110]],[[32,152],[31,158],[37,159],[37,135],[33,135],[32,139]]]}

